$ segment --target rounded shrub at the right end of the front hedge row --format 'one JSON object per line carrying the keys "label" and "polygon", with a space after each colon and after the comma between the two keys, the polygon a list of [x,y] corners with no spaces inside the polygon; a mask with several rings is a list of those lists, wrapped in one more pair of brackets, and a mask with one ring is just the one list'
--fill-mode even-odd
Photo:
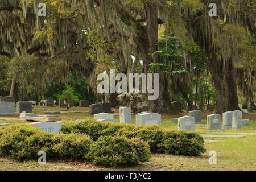
{"label": "rounded shrub at the right end of the front hedge row", "polygon": [[86,158],[108,167],[131,166],[150,159],[148,144],[139,139],[102,136],[91,146]]}

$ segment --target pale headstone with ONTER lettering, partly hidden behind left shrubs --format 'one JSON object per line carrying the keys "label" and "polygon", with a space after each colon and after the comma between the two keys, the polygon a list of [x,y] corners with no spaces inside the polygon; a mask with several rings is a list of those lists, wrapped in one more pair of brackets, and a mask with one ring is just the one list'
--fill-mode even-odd
{"label": "pale headstone with ONTER lettering, partly hidden behind left shrubs", "polygon": [[47,133],[60,133],[62,127],[62,123],[54,122],[35,122],[31,123],[31,125],[35,125],[40,130],[46,131]]}

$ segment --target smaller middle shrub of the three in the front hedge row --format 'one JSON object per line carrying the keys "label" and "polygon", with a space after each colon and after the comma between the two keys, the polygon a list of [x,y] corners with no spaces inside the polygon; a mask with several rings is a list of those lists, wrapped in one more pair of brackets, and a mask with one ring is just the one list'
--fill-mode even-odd
{"label": "smaller middle shrub of the three in the front hedge row", "polygon": [[56,142],[53,150],[58,158],[66,160],[84,158],[93,143],[88,135],[79,133],[55,135],[53,140]]}

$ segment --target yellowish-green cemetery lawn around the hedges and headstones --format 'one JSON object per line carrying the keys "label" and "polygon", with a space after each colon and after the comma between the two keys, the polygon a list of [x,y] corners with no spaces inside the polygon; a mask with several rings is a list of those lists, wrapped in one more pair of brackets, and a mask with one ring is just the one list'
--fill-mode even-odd
{"label": "yellowish-green cemetery lawn around the hedges and headstones", "polygon": [[[42,107],[33,106],[33,112],[43,114],[45,112],[65,110],[59,107]],[[68,111],[88,111],[88,108],[74,107]],[[83,118],[93,118],[88,112],[82,113],[62,113],[53,114],[59,115],[57,118],[63,120],[76,120]],[[117,113],[118,110],[115,110]],[[225,131],[211,131],[205,129],[207,115],[212,112],[202,111],[202,120],[204,124],[196,125],[195,132],[199,134],[214,134],[214,135],[243,135],[243,138],[219,138],[209,137],[204,138],[205,148],[207,151],[199,157],[174,156],[165,154],[152,154],[149,162],[144,162],[139,166],[127,168],[104,168],[101,166],[94,166],[91,162],[86,161],[59,161],[47,160],[46,165],[39,165],[37,161],[30,160],[27,162],[19,162],[0,157],[0,170],[256,170],[256,112],[250,114],[243,114],[242,118],[250,120],[248,126],[243,126],[242,130],[225,130]],[[179,113],[179,115],[162,114],[162,127],[164,130],[177,130],[177,124],[171,123],[172,118],[188,115],[187,112]],[[119,119],[119,115],[114,117]],[[22,121],[17,116],[2,117],[1,123],[30,123]],[[222,115],[221,115],[222,122]],[[132,123],[135,123],[135,115],[132,115]],[[0,126],[3,127],[3,126]],[[217,164],[210,165],[208,155],[210,151],[216,151]]]}

